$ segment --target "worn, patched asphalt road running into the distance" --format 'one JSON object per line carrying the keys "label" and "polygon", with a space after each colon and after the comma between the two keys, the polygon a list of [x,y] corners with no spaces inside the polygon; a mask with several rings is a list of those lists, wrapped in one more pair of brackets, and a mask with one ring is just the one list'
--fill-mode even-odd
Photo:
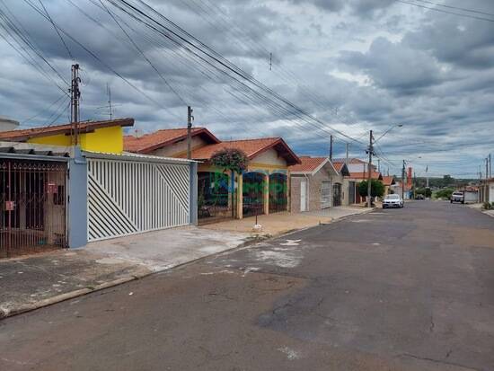
{"label": "worn, patched asphalt road running into the distance", "polygon": [[494,370],[494,218],[419,201],[0,322],[1,370]]}

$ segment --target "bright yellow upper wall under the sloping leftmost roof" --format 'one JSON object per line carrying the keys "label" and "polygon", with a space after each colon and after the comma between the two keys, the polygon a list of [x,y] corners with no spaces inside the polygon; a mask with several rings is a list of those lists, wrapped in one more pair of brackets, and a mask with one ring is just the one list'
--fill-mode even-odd
{"label": "bright yellow upper wall under the sloping leftmost roof", "polygon": [[[49,146],[71,146],[71,137],[58,134],[49,137],[34,137],[28,143]],[[123,129],[119,126],[97,128],[92,133],[79,135],[79,144],[84,151],[121,154],[123,152]]]}

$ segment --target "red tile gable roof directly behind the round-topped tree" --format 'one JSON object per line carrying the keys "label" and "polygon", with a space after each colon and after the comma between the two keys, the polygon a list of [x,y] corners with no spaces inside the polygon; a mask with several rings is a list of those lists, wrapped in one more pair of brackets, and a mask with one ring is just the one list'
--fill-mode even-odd
{"label": "red tile gable roof directly behind the round-topped tree", "polygon": [[287,146],[287,143],[280,137],[265,137],[260,139],[231,140],[216,143],[214,145],[203,146],[192,151],[191,157],[194,160],[209,160],[217,151],[225,148],[240,149],[251,160],[253,157],[274,148],[278,154],[285,158],[288,165],[300,163],[300,159]]}

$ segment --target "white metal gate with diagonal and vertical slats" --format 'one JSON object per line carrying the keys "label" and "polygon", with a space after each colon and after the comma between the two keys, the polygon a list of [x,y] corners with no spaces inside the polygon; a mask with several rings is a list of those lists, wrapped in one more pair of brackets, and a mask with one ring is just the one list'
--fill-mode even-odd
{"label": "white metal gate with diagonal and vertical slats", "polygon": [[88,158],[88,241],[190,224],[190,164]]}

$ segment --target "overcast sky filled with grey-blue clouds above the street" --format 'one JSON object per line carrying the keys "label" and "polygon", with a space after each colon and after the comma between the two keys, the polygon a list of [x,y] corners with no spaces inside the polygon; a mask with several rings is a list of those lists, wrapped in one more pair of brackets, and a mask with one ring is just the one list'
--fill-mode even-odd
{"label": "overcast sky filled with grey-blue clouds above the street", "polygon": [[402,124],[377,142],[384,172],[474,178],[494,154],[491,0],[146,4],[166,18],[140,0],[0,0],[0,116],[66,122],[75,61],[82,119],[109,117],[110,86],[114,117],[145,132],[185,126],[191,105],[218,137],[282,136],[299,155],[327,155],[332,133],[336,156],[363,158],[368,130]]}

